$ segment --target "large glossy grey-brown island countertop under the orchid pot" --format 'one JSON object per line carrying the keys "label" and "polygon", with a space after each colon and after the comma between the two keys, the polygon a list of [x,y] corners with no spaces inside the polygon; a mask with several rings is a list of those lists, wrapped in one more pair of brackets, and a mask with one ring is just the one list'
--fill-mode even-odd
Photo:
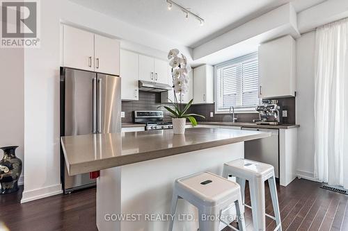
{"label": "large glossy grey-brown island countertop under the orchid pot", "polygon": [[270,135],[248,130],[190,128],[184,135],[174,135],[170,129],[68,136],[61,137],[61,144],[68,173],[74,176]]}

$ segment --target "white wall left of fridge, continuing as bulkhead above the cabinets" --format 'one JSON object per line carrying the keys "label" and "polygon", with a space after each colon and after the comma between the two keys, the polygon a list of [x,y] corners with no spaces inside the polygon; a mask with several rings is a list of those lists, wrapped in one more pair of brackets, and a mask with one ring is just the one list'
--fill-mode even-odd
{"label": "white wall left of fridge, continuing as bulkhead above the cabinets", "polygon": [[[61,193],[59,140],[59,67],[61,22],[121,40],[121,46],[166,58],[178,48],[191,50],[141,28],[125,24],[68,0],[41,3],[41,48],[24,51],[24,192],[22,203]],[[127,42],[126,42],[127,41]]]}

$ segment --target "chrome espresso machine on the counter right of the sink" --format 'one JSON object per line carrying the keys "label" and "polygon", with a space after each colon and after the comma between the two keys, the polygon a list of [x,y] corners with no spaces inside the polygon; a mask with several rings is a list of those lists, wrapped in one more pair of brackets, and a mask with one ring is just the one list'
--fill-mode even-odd
{"label": "chrome espresso machine on the counter right of the sink", "polygon": [[262,100],[262,105],[258,105],[256,110],[260,117],[254,120],[256,124],[278,125],[280,123],[280,106],[277,100]]}

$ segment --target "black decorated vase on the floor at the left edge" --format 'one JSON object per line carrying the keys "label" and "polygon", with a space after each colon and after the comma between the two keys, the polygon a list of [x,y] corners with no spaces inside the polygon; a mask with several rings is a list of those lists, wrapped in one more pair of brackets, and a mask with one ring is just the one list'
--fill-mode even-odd
{"label": "black decorated vase on the floor at the left edge", "polygon": [[18,146],[0,148],[3,159],[0,160],[0,194],[10,194],[18,190],[18,179],[22,173],[22,160],[16,157]]}

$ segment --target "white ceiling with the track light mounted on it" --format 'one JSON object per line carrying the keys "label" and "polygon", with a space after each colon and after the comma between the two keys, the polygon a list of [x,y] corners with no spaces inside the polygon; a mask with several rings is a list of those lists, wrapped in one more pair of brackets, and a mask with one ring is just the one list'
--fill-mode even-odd
{"label": "white ceiling with the track light mounted on it", "polygon": [[203,17],[203,26],[175,7],[168,10],[166,0],[70,1],[195,48],[284,3],[300,12],[326,0],[174,0]]}

